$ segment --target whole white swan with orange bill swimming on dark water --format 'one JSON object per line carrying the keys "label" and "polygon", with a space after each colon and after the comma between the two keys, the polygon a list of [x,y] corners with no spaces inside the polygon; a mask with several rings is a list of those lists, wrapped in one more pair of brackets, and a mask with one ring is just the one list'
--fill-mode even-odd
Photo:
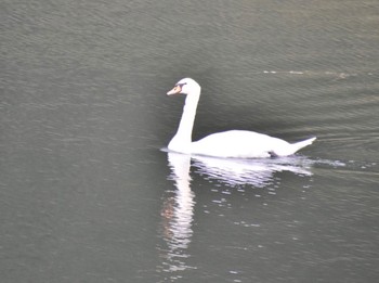
{"label": "whole white swan with orange bill swimming on dark water", "polygon": [[167,92],[168,95],[187,94],[177,134],[168,145],[170,151],[215,157],[262,158],[291,155],[316,139],[311,138],[291,144],[263,133],[231,130],[212,133],[199,141],[192,142],[192,130],[200,90],[200,86],[195,80],[184,78]]}

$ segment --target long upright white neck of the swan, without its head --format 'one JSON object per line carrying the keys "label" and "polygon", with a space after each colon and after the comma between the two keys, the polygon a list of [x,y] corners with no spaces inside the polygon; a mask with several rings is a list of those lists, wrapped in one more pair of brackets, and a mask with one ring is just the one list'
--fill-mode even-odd
{"label": "long upright white neck of the swan, without its head", "polygon": [[169,150],[175,152],[191,153],[192,130],[196,116],[197,103],[200,98],[200,88],[194,89],[187,94],[183,108],[182,118],[177,134],[169,143]]}

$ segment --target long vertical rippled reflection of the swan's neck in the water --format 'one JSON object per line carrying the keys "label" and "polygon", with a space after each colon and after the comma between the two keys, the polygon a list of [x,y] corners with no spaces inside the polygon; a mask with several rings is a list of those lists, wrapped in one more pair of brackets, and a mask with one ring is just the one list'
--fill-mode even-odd
{"label": "long vertical rippled reflection of the swan's neck in the water", "polygon": [[178,190],[173,195],[167,195],[164,204],[162,228],[168,250],[165,253],[165,271],[174,272],[192,268],[184,260],[190,257],[187,248],[192,239],[192,222],[194,215],[194,193],[190,188],[191,156],[169,153],[169,164],[172,179]]}

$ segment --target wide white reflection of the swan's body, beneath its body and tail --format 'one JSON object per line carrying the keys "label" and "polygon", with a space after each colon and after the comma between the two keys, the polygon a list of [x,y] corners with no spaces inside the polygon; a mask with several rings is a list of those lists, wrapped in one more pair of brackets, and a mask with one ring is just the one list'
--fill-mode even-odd
{"label": "wide white reflection of the swan's body, beneath its body and tail", "polygon": [[274,159],[237,159],[208,156],[193,156],[197,172],[217,179],[228,185],[251,184],[262,188],[273,182],[274,173],[291,171],[311,176],[312,162],[301,156]]}

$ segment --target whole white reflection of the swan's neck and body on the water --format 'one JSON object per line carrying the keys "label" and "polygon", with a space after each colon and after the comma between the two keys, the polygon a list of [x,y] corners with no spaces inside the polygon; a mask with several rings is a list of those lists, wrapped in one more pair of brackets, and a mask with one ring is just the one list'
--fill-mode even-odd
{"label": "whole white reflection of the swan's neck and body on the water", "polygon": [[274,159],[224,159],[171,152],[168,153],[168,160],[171,168],[170,179],[174,181],[175,190],[167,190],[164,196],[161,231],[166,248],[160,252],[162,270],[170,273],[171,281],[181,278],[178,271],[196,268],[186,262],[191,256],[188,247],[193,236],[195,205],[195,194],[191,190],[191,160],[196,171],[207,178],[217,179],[231,186],[250,184],[256,188],[271,183],[274,173],[278,171],[311,176],[310,168],[313,164],[300,156]]}

